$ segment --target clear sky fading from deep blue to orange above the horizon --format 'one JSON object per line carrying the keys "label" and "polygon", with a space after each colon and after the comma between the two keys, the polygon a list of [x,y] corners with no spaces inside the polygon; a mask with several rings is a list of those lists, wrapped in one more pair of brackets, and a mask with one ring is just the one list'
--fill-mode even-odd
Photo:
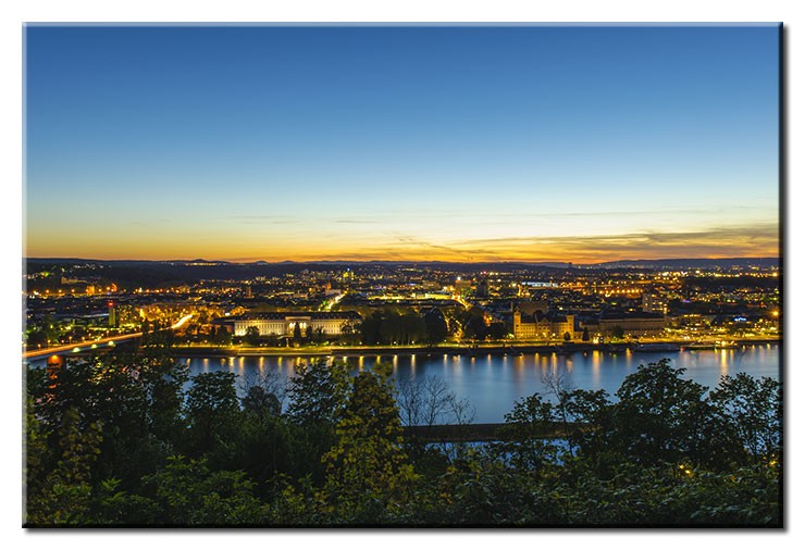
{"label": "clear sky fading from deep blue to orange above the horizon", "polygon": [[24,254],[777,257],[779,32],[28,26]]}

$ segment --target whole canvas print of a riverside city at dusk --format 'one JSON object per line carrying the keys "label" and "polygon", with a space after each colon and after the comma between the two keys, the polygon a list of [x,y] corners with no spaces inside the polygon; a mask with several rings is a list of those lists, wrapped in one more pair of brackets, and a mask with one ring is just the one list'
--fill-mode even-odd
{"label": "whole canvas print of a riverside city at dusk", "polygon": [[22,522],[783,526],[782,26],[24,26]]}

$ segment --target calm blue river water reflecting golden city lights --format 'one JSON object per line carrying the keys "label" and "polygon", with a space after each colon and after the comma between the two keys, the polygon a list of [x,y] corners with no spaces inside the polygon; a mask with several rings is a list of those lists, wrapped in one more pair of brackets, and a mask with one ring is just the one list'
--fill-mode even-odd
{"label": "calm blue river water reflecting golden city lights", "polygon": [[[474,409],[474,422],[497,423],[510,412],[515,401],[536,392],[545,392],[545,378],[561,375],[566,384],[579,389],[604,389],[611,399],[623,378],[636,372],[641,364],[668,358],[676,368],[685,368],[685,378],[714,388],[722,375],[747,373],[755,377],[781,379],[782,358],[778,345],[742,346],[723,350],[686,350],[674,352],[575,352],[525,353],[522,355],[479,354],[476,357],[431,355],[367,355],[347,360],[357,373],[381,361],[392,363],[397,382],[441,378],[450,391],[469,401]],[[238,386],[258,373],[273,371],[289,377],[295,367],[310,359],[296,357],[182,358],[190,375],[228,371],[239,377]]]}

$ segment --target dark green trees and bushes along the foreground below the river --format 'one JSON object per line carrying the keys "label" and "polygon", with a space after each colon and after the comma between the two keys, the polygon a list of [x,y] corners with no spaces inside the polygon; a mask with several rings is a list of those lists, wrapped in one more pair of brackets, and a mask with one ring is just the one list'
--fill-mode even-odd
{"label": "dark green trees and bushes along the foreground below the river", "polygon": [[160,349],[29,368],[25,525],[782,526],[776,380],[708,392],[667,361],[614,399],[555,380],[495,440],[441,445],[389,374],[321,362],[238,398]]}

